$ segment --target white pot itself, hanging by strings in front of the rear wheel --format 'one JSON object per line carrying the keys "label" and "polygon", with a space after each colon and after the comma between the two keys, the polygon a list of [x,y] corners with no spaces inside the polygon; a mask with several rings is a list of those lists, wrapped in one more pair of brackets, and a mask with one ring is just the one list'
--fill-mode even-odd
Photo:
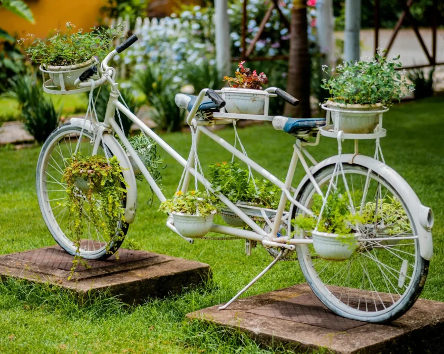
{"label": "white pot itself, hanging by strings in front of the rear wheel", "polygon": [[[345,260],[350,258],[358,247],[360,234],[352,234],[354,241],[345,243],[338,234],[312,231],[313,247],[321,258],[328,260]],[[343,236],[342,236],[343,237]]]}

